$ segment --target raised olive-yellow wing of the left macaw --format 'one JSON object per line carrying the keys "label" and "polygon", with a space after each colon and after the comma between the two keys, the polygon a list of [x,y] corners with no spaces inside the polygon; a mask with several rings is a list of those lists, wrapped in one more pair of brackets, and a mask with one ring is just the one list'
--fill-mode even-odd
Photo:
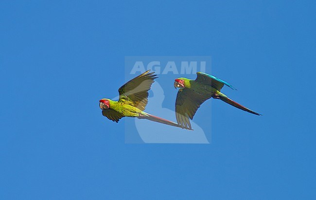
{"label": "raised olive-yellow wing of the left macaw", "polygon": [[148,91],[157,78],[155,72],[150,70],[140,74],[132,80],[125,83],[120,89],[120,100],[126,104],[144,110],[148,103]]}

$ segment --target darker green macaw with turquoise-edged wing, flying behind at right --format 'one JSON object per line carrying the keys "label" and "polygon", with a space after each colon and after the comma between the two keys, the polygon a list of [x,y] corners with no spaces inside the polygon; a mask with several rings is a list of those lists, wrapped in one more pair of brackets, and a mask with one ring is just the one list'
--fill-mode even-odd
{"label": "darker green macaw with turquoise-edged wing, flying behind at right", "polygon": [[188,78],[176,78],[175,80],[175,88],[180,88],[176,96],[176,121],[182,128],[191,128],[190,119],[193,119],[196,110],[200,108],[201,104],[211,97],[225,101],[238,109],[261,115],[229,99],[220,92],[224,85],[236,90],[226,81],[207,73],[198,72],[196,74],[195,80]]}

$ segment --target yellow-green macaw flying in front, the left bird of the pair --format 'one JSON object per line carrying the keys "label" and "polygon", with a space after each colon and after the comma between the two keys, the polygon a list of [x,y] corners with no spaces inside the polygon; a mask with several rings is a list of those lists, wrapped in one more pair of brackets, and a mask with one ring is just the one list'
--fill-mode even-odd
{"label": "yellow-green macaw flying in front, the left bird of the pair", "polygon": [[148,103],[148,91],[150,90],[151,85],[155,82],[154,79],[157,78],[154,72],[149,73],[149,71],[150,70],[125,83],[119,89],[119,101],[101,99],[99,102],[103,116],[116,123],[123,117],[137,117],[139,119],[148,119],[174,127],[181,127],[172,121],[162,119],[143,111]]}

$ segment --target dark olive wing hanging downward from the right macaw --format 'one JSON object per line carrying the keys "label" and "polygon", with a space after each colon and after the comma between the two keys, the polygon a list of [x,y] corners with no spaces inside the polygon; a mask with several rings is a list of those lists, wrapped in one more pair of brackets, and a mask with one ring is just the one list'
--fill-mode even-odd
{"label": "dark olive wing hanging downward from the right macaw", "polygon": [[211,94],[202,95],[188,88],[180,89],[176,95],[176,121],[178,124],[182,128],[191,129],[190,119],[193,119],[196,110],[209,98],[211,98]]}

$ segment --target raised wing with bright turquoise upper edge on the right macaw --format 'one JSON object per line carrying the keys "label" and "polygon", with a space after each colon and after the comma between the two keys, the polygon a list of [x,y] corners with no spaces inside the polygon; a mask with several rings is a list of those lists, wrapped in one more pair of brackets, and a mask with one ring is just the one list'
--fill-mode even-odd
{"label": "raised wing with bright turquoise upper edge on the right macaw", "polygon": [[229,88],[236,90],[228,82],[223,81],[219,78],[216,78],[215,76],[212,76],[210,74],[203,73],[203,72],[197,72],[196,74],[197,74],[197,77],[195,79],[196,82],[210,85],[211,87],[215,88],[218,91],[221,91],[221,89],[224,87],[224,85],[227,85]]}

